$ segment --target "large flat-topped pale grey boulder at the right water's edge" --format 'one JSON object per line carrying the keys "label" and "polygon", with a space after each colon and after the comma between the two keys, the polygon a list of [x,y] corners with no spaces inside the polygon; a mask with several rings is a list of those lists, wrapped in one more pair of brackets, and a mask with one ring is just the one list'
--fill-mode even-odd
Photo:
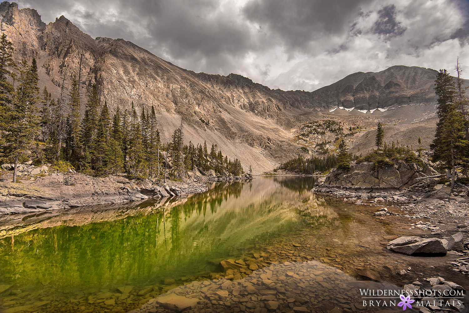
{"label": "large flat-topped pale grey boulder at the right water's edge", "polygon": [[402,254],[446,254],[446,248],[438,238],[399,237],[387,244],[387,249]]}

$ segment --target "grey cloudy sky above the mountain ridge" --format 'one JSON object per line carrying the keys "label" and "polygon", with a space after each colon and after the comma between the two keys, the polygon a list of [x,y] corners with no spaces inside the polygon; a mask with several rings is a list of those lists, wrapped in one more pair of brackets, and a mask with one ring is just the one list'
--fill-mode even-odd
{"label": "grey cloudy sky above the mountain ridge", "polygon": [[313,91],[357,71],[446,68],[469,78],[468,0],[19,0],[196,72]]}

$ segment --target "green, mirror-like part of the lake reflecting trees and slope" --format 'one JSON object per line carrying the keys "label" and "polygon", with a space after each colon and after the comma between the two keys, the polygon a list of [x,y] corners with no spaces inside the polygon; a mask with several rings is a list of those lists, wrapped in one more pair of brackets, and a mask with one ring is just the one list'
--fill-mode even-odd
{"label": "green, mirror-like part of the lake reflecting trees and slope", "polygon": [[[25,216],[0,231],[0,285],[11,286],[0,293],[0,312],[74,312],[70,298],[209,278],[220,260],[301,229],[295,204],[313,183],[256,178],[162,203]],[[132,309],[137,298],[121,307]]]}

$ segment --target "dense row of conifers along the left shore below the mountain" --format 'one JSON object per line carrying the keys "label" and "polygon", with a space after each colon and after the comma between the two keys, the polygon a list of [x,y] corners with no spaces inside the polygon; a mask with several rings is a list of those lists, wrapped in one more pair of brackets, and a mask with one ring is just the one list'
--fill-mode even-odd
{"label": "dense row of conifers along the left shore below the mountain", "polygon": [[[5,34],[0,38],[0,159],[14,163],[34,160],[52,163],[57,169],[74,168],[90,175],[125,172],[134,178],[183,179],[194,169],[214,170],[219,175],[244,173],[241,161],[223,156],[212,144],[184,144],[181,127],[172,141],[162,142],[153,106],[137,113],[116,108],[111,116],[106,101],[101,104],[96,84],[86,95],[81,114],[80,76],[67,70],[60,76],[60,93],[53,98],[46,87],[39,90],[38,67],[33,58],[18,66],[14,48]],[[80,68],[81,69],[81,68]],[[40,108],[40,109],[39,109]]]}

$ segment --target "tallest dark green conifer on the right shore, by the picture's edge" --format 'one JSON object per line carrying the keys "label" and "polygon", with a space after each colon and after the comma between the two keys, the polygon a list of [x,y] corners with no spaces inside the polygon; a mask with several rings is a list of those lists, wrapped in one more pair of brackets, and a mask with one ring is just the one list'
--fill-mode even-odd
{"label": "tallest dark green conifer on the right shore, by the picture's edge", "polygon": [[468,141],[464,136],[464,118],[455,105],[456,86],[453,77],[446,69],[440,69],[435,80],[435,93],[438,96],[437,114],[439,122],[435,139],[430,145],[433,161],[440,161],[441,168],[451,173],[451,188],[454,188],[456,166],[467,163]]}

